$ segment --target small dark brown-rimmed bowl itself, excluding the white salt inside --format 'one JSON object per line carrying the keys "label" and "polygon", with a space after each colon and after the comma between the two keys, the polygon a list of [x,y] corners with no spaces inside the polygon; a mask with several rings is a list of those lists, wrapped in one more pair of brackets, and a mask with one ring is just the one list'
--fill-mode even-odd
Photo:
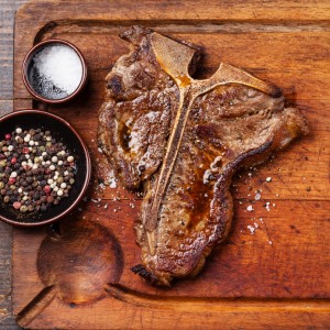
{"label": "small dark brown-rimmed bowl itself, excluding the white salt inside", "polygon": [[[78,87],[76,88],[76,90],[67,95],[66,97],[58,98],[58,99],[46,98],[40,91],[37,91],[37,89],[33,86],[33,79],[31,76],[31,70],[33,69],[33,57],[45,47],[53,46],[53,45],[65,45],[72,48],[73,51],[75,51],[75,53],[80,58],[81,66],[82,66],[81,80]],[[34,99],[42,101],[44,103],[52,103],[52,105],[64,103],[75,98],[85,87],[87,81],[87,64],[81,52],[75,45],[61,38],[52,38],[52,40],[41,42],[30,50],[30,52],[26,54],[23,61],[22,75],[23,75],[24,85]]]}

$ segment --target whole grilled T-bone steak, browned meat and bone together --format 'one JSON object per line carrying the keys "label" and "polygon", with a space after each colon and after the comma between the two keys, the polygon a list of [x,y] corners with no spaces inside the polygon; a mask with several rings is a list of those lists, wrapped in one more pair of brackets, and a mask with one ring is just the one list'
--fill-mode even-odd
{"label": "whole grilled T-bone steak, browned meat and bone together", "polygon": [[226,239],[235,170],[308,129],[276,87],[231,65],[191,78],[200,50],[190,43],[140,26],[121,37],[132,48],[106,78],[99,143],[122,184],[145,189],[135,227],[142,264],[133,271],[168,286],[197,274]]}

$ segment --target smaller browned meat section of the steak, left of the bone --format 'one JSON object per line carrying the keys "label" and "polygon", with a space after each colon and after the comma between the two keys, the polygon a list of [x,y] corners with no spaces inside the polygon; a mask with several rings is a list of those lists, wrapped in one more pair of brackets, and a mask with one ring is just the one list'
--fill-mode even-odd
{"label": "smaller browned meat section of the steak, left of the bone", "polygon": [[[130,189],[161,165],[179,101],[179,89],[152,51],[152,33],[132,26],[120,34],[130,42],[131,53],[120,57],[106,77],[106,101],[99,111],[99,144]],[[198,58],[199,48],[185,45]]]}

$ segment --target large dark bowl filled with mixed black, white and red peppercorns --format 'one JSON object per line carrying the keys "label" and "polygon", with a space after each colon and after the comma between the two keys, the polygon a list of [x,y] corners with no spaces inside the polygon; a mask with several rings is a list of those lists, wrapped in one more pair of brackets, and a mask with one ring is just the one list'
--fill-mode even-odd
{"label": "large dark bowl filled with mixed black, white and red peppercorns", "polygon": [[63,218],[82,198],[90,156],[63,118],[21,110],[0,118],[0,219],[33,227]]}

